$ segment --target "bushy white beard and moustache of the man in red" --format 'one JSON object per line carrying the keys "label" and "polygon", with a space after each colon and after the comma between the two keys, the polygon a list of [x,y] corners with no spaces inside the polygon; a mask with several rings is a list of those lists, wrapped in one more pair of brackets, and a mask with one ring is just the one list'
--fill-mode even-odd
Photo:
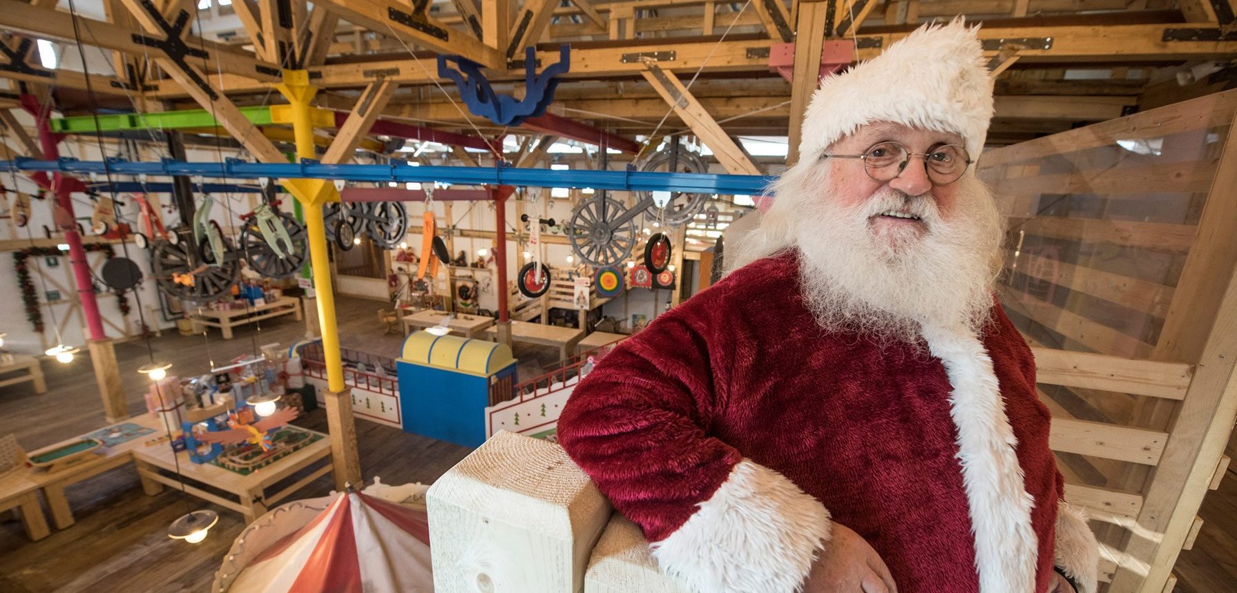
{"label": "bushy white beard and moustache of the man in red", "polygon": [[[907,196],[883,187],[852,208],[807,193],[818,198],[802,200],[793,233],[804,300],[821,327],[908,343],[923,325],[978,334],[993,304],[1001,216],[982,182],[965,175],[956,183],[949,221],[930,191]],[[878,233],[872,216],[889,210],[919,216],[925,230]]]}

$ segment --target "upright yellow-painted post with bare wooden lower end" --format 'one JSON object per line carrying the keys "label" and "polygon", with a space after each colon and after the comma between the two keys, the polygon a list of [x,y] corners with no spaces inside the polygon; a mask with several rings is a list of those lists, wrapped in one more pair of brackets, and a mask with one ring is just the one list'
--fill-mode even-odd
{"label": "upright yellow-painted post with bare wooden lower end", "polygon": [[[283,82],[277,86],[292,106],[292,132],[297,156],[317,158],[313,142],[313,119],[309,101],[318,89],[309,85],[306,70],[283,70]],[[324,201],[339,200],[335,187],[322,179],[291,179],[288,190],[304,206],[306,231],[309,242],[309,267],[317,290],[318,326],[322,331],[322,351],[327,363],[327,425],[330,431],[332,463],[335,488],[360,484],[361,462],[356,450],[356,425],[353,418],[351,393],[344,384],[344,362],[339,352],[339,330],[335,324],[335,293],[330,282],[330,258],[327,254],[327,229],[322,216]]]}

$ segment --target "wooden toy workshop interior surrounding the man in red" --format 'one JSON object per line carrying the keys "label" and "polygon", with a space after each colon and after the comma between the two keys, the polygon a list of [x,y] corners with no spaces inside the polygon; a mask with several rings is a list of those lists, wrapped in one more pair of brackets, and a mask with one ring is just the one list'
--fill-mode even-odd
{"label": "wooden toy workshop interior surrounding the man in red", "polygon": [[1237,0],[0,0],[0,591],[428,579],[430,484],[533,542],[501,591],[688,591],[558,414],[721,278],[820,78],[955,16],[1100,591],[1237,591]]}

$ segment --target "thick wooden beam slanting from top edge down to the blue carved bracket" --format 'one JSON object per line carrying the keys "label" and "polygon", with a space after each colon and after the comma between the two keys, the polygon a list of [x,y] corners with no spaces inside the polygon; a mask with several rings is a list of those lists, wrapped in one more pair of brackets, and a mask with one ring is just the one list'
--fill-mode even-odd
{"label": "thick wooden beam slanting from top edge down to the blue carved bracket", "polygon": [[[438,53],[463,56],[487,68],[502,70],[507,68],[497,49],[486,47],[471,35],[461,33],[437,21],[424,12],[424,6],[419,12],[407,2],[397,0],[320,0],[315,6],[324,6],[349,22],[428,47]],[[356,69],[356,64],[349,67]]]}

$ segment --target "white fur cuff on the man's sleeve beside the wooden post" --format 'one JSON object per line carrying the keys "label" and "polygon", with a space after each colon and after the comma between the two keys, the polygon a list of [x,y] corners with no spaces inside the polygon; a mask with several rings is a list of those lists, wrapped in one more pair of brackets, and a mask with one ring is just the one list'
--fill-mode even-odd
{"label": "white fur cuff on the man's sleeve beside the wooden post", "polygon": [[696,593],[798,591],[830,525],[819,500],[743,460],[653,557]]}

